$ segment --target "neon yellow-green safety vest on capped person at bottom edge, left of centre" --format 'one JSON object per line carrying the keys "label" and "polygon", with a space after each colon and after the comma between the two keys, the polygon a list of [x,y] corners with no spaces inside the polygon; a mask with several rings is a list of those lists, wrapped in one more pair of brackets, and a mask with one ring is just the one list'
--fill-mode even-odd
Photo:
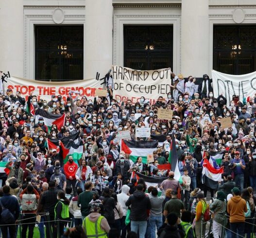
{"label": "neon yellow-green safety vest on capped person at bottom edge, left of centre", "polygon": [[91,222],[88,217],[83,221],[86,237],[88,238],[107,238],[107,233],[102,230],[101,222],[104,217],[100,216],[96,222]]}

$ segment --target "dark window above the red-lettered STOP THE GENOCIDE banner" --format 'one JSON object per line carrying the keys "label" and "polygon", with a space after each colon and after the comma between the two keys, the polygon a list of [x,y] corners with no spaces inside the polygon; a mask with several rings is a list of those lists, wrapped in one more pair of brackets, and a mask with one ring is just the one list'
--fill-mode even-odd
{"label": "dark window above the red-lettered STOP THE GENOCIDE banner", "polygon": [[83,54],[83,26],[35,26],[35,79],[83,79]]}

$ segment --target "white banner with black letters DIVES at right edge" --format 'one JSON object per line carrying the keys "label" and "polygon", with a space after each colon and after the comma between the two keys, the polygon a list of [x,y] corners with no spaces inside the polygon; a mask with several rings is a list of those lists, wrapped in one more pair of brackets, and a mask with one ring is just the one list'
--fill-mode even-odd
{"label": "white banner with black letters DIVES at right edge", "polygon": [[223,94],[228,102],[232,96],[239,95],[242,102],[243,97],[254,96],[256,93],[256,72],[244,75],[230,75],[212,70],[212,84],[214,96]]}

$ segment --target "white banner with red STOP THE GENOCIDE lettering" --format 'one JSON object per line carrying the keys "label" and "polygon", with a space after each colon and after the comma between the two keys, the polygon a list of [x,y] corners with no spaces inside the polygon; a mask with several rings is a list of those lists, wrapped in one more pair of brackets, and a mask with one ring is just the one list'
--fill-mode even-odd
{"label": "white banner with red STOP THE GENOCIDE lettering", "polygon": [[[87,99],[95,96],[95,90],[101,88],[101,81],[96,79],[84,79],[64,82],[48,82],[34,79],[22,79],[11,77],[5,83],[5,90],[12,89],[14,94],[19,91],[22,97],[27,97],[31,92],[40,98],[50,101],[51,95],[61,95],[64,100],[69,96],[70,91],[79,91],[80,96],[86,96]],[[7,88],[6,88],[7,86]],[[74,96],[74,95],[73,95]]]}

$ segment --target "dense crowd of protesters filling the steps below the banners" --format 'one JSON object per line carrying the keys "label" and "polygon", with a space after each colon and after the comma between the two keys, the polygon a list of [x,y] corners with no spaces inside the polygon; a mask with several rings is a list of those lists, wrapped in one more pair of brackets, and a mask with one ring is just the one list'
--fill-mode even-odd
{"label": "dense crowd of protesters filling the steps below the banners", "polygon": [[[114,99],[111,81],[106,97],[93,99],[70,92],[67,100],[51,95],[46,101],[31,93],[26,101],[11,89],[0,95],[0,161],[9,170],[8,176],[1,174],[0,212],[4,217],[7,208],[14,219],[2,225],[1,218],[2,237],[17,237],[14,224],[19,223],[20,237],[32,238],[37,222],[40,238],[155,238],[156,230],[160,238],[199,238],[205,237],[209,210],[214,238],[222,237],[222,227],[228,238],[237,233],[249,237],[256,204],[256,95],[243,101],[233,95],[227,102],[223,94],[213,95],[207,75],[198,92],[192,76],[172,77],[167,98],[159,95],[153,104],[143,96],[136,103]],[[31,104],[35,110],[66,113],[65,124],[49,129],[43,117],[35,124],[27,110]],[[172,120],[158,119],[159,108],[173,110]],[[224,117],[231,118],[232,127],[222,128]],[[165,137],[153,153],[154,162],[143,164],[141,157],[132,161],[120,150],[119,131],[130,131],[132,140],[152,140],[137,138],[136,127]],[[78,161],[70,155],[64,163],[47,138],[61,140],[77,132],[83,155]],[[182,182],[157,167],[168,163],[172,134]],[[209,152],[222,150],[217,165]],[[224,167],[215,199],[215,190],[202,184],[204,159]],[[167,178],[147,187],[143,179],[132,177],[133,171]]]}

